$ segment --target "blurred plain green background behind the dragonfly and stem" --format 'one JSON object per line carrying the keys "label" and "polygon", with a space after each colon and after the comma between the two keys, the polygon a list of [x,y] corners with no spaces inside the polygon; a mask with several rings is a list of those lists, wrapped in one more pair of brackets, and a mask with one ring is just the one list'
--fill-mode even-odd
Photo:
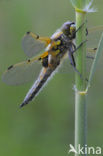
{"label": "blurred plain green background behind the dragonfly and stem", "polygon": [[[103,25],[103,0],[88,25]],[[21,48],[25,32],[51,36],[65,21],[75,20],[69,0],[0,0],[0,75],[26,59]],[[74,144],[74,71],[56,74],[39,96],[19,105],[32,83],[7,86],[0,81],[0,156],[67,156]],[[103,149],[103,57],[88,94],[88,146]],[[72,155],[72,154],[69,154]]]}

